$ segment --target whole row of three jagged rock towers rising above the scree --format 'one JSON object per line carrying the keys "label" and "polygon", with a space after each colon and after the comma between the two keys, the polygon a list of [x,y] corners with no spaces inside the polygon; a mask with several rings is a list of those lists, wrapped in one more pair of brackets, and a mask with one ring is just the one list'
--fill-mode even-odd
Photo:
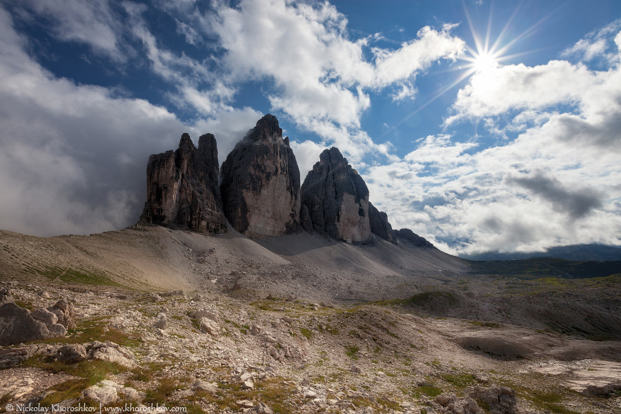
{"label": "whole row of three jagged rock towers rising above the scree", "polygon": [[[230,224],[259,238],[295,233],[301,226],[348,243],[365,244],[376,235],[398,244],[388,216],[368,198],[364,179],[336,147],[319,155],[300,187],[289,139],[282,138],[278,119],[267,114],[221,168],[211,134],[201,135],[198,148],[183,134],[175,152],[151,155],[140,221],[201,233],[224,233]],[[400,237],[412,239],[405,233]]]}

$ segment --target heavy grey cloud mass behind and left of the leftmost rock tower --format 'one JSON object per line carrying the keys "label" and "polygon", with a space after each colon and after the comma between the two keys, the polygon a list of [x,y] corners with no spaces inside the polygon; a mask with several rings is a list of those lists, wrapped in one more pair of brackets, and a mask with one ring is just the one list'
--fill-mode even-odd
{"label": "heavy grey cloud mass behind and left of the leftmost rock tower", "polygon": [[144,206],[150,154],[177,148],[182,132],[195,142],[213,132],[220,148],[232,147],[259,116],[223,110],[184,124],[143,99],[54,77],[26,45],[0,8],[0,101],[10,102],[0,105],[0,228],[36,235],[124,228]]}

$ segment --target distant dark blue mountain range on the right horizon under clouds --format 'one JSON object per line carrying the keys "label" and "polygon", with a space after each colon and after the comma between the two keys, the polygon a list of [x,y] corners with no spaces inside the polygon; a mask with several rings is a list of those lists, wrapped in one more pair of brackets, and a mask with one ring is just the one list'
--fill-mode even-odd
{"label": "distant dark blue mountain range on the right horizon under clouds", "polygon": [[479,255],[460,255],[470,260],[521,260],[536,257],[555,257],[566,260],[593,260],[595,262],[621,261],[621,248],[602,244],[575,244],[548,248],[544,252],[500,253],[488,252]]}

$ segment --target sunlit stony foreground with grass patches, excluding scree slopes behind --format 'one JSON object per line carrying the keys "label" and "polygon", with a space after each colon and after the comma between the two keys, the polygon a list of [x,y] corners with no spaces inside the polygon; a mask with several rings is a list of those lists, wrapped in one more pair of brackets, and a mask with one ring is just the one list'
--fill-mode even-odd
{"label": "sunlit stony foreground with grass patches, excluding scree slopes behind", "polygon": [[[3,364],[14,365],[0,371],[0,409],[101,402],[206,413],[621,412],[618,342],[596,343],[613,349],[606,361],[584,340],[391,304],[4,286],[26,308],[68,299],[77,326],[3,348]],[[455,341],[495,331],[549,349],[500,356]],[[555,355],[567,348],[578,358]]]}

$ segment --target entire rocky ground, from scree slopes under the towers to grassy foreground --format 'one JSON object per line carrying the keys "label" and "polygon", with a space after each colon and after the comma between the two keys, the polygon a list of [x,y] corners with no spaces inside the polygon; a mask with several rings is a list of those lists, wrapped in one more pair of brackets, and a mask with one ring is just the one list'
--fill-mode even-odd
{"label": "entire rocky ground, from scree slopes under the towers to grassy foreground", "polygon": [[0,236],[1,300],[48,326],[0,347],[3,412],[621,413],[619,277],[299,235]]}

